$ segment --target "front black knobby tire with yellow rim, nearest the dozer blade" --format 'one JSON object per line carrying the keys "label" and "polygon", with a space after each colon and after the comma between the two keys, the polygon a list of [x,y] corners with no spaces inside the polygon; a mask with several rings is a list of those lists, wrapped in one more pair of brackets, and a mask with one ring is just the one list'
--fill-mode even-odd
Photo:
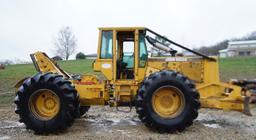
{"label": "front black knobby tire with yellow rim, nearest the dozer blade", "polygon": [[160,133],[182,132],[197,118],[199,98],[194,83],[187,77],[174,71],[160,71],[143,81],[135,107],[147,127]]}

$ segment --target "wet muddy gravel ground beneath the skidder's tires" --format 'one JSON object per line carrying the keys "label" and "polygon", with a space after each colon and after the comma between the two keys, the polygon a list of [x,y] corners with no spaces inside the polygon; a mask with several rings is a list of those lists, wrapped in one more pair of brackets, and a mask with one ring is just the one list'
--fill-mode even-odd
{"label": "wet muddy gravel ground beneath the skidder's tires", "polygon": [[[182,133],[159,134],[147,129],[131,113],[110,107],[92,107],[74,125],[60,134],[36,135],[18,122],[14,105],[0,106],[0,140],[5,139],[256,139],[256,118],[234,111],[201,109],[194,124]],[[252,110],[256,114],[256,109]]]}

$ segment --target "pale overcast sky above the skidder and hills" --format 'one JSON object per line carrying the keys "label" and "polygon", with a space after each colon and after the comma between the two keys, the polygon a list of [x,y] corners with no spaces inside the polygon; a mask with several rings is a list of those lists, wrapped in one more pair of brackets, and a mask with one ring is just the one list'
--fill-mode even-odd
{"label": "pale overcast sky above the skidder and hills", "polygon": [[256,30],[256,0],[0,0],[0,60],[29,60],[70,26],[77,52],[96,53],[102,26],[146,26],[190,48]]}

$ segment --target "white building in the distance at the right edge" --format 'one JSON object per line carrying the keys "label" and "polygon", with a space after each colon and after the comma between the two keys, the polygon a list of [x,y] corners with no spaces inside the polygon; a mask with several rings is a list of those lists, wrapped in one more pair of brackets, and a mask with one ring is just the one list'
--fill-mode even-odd
{"label": "white building in the distance at the right edge", "polygon": [[219,51],[220,57],[256,56],[256,40],[229,41],[228,48]]}

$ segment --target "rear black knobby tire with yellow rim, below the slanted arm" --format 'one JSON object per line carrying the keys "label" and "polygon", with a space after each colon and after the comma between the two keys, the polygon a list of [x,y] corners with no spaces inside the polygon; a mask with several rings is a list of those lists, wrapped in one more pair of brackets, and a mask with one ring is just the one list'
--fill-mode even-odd
{"label": "rear black knobby tire with yellow rim, below the slanted arm", "polygon": [[58,133],[74,122],[77,91],[61,75],[38,73],[28,78],[15,97],[15,112],[27,129],[38,134]]}

